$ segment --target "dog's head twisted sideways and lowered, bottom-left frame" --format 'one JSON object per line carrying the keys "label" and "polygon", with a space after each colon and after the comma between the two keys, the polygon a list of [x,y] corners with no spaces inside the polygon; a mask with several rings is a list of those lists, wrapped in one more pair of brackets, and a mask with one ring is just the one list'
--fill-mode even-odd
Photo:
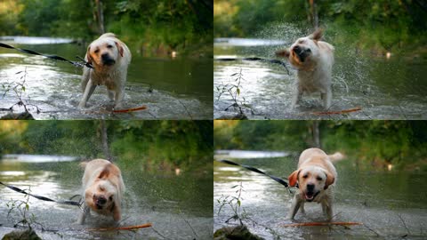
{"label": "dog's head twisted sideways and lowered, bottom-left frame", "polygon": [[119,186],[113,174],[113,164],[108,164],[93,181],[93,184],[85,189],[85,203],[95,212],[114,212],[120,205]]}

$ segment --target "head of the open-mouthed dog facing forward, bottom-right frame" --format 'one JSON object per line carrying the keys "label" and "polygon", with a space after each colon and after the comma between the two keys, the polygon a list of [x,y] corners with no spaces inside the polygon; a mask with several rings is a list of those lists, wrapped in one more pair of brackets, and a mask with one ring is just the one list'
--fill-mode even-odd
{"label": "head of the open-mouthed dog facing forward, bottom-right frame", "polygon": [[321,167],[312,165],[292,172],[288,180],[291,187],[298,182],[300,193],[306,201],[311,202],[334,183],[334,175]]}

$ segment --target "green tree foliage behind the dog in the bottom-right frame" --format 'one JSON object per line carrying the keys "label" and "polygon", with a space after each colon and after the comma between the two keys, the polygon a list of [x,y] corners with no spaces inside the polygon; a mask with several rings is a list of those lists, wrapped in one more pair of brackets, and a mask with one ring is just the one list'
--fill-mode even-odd
{"label": "green tree foliage behind the dog in the bottom-right frame", "polygon": [[[215,149],[301,152],[315,146],[314,121],[230,121],[216,123]],[[321,148],[341,151],[357,164],[397,164],[427,170],[425,121],[321,121]]]}

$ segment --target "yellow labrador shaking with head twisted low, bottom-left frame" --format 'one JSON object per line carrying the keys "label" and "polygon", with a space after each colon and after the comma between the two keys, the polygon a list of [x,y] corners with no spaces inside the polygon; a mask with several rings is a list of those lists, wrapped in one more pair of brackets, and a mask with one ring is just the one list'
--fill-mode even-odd
{"label": "yellow labrador shaking with head twisted low, bottom-left frame", "polygon": [[104,159],[94,159],[81,165],[85,167],[82,179],[85,202],[78,223],[84,224],[86,215],[91,211],[112,216],[116,221],[120,220],[121,202],[125,192],[120,169]]}

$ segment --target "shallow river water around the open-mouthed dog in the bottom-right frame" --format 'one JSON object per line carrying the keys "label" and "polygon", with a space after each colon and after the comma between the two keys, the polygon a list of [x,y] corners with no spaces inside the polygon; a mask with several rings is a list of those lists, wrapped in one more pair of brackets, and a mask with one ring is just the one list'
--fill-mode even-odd
{"label": "shallow river water around the open-mouthed dog in the bottom-right frame", "polygon": [[[261,153],[264,153],[263,155]],[[240,164],[254,166],[280,178],[296,168],[293,155],[275,157],[268,152],[257,152],[252,157],[224,152],[216,159],[234,156]],[[286,155],[286,153],[284,153]],[[272,157],[269,157],[272,156]],[[334,221],[359,222],[363,225],[286,228],[292,223],[286,219],[291,196],[282,185],[264,175],[237,166],[214,162],[214,229],[233,226],[230,207],[224,206],[218,214],[217,199],[237,196],[233,186],[242,183],[241,207],[248,218],[245,223],[255,234],[266,239],[425,239],[427,237],[427,175],[416,172],[378,172],[360,170],[348,159],[335,164],[338,180],[335,188]],[[298,212],[294,222],[325,221],[319,204],[306,204],[306,214]]]}

